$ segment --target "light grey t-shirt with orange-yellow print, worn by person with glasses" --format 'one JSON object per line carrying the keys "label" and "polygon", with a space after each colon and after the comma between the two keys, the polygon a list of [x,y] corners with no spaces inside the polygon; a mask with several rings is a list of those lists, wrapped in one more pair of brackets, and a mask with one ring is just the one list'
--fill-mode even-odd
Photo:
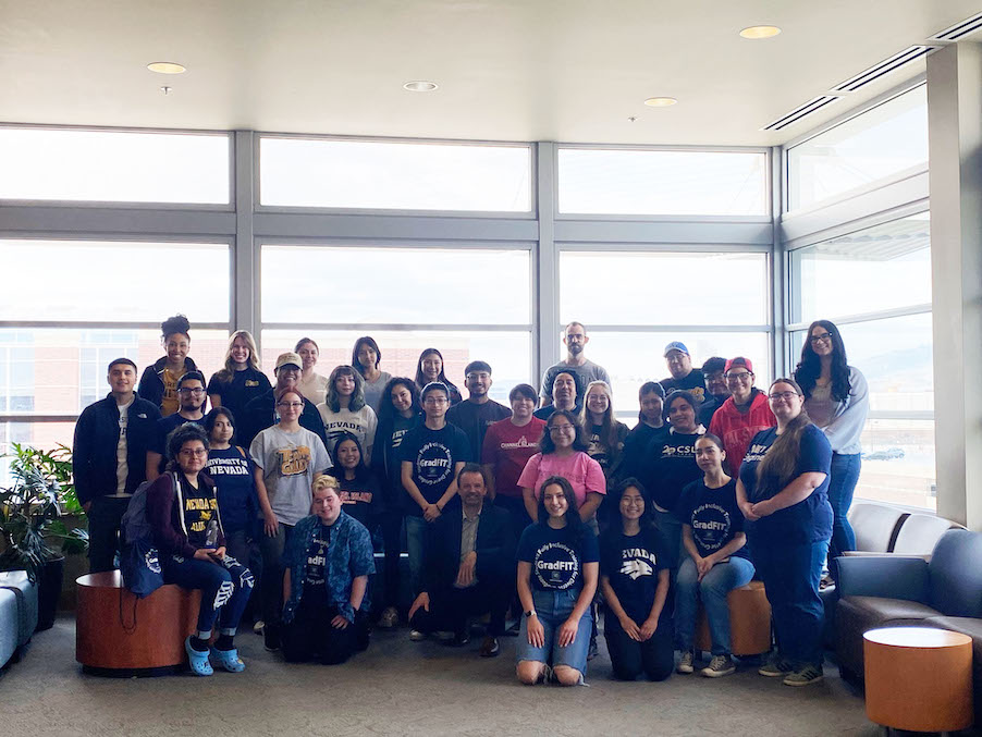
{"label": "light grey t-shirt with orange-yellow print, worn by person with glasses", "polygon": [[320,438],[305,428],[284,432],[279,425],[266,428],[249,446],[249,455],[262,469],[262,480],[277,519],[296,525],[310,514],[315,474],[331,467]]}

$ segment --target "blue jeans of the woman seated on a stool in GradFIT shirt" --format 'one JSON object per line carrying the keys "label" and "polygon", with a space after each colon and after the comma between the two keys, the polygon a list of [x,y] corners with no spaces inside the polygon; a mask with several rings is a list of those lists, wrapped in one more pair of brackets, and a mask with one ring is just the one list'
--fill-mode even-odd
{"label": "blue jeans of the woman seated on a stool in GradFIT shirt", "polygon": [[729,605],[726,594],[736,588],[747,586],[753,578],[753,564],[745,557],[732,556],[726,563],[717,563],[703,576],[696,579],[696,562],[686,556],[675,579],[675,637],[683,652],[692,650],[696,637],[696,603],[702,600],[714,655],[729,654]]}

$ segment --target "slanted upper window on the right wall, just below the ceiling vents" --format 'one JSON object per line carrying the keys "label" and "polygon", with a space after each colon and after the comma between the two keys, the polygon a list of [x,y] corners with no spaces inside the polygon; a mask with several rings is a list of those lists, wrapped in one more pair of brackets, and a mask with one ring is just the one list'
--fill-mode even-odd
{"label": "slanted upper window on the right wall, just below the ceiling vents", "polygon": [[920,85],[787,151],[796,210],[928,163],[928,87]]}

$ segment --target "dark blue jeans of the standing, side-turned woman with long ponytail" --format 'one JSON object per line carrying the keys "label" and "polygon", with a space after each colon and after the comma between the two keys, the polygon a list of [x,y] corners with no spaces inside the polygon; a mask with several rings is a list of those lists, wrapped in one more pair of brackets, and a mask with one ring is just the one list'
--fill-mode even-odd
{"label": "dark blue jeans of the standing, side-turned woman with long ponytail", "polygon": [[781,655],[796,668],[821,668],[825,607],[819,597],[819,581],[828,541],[773,543],[754,537],[750,549],[771,602]]}

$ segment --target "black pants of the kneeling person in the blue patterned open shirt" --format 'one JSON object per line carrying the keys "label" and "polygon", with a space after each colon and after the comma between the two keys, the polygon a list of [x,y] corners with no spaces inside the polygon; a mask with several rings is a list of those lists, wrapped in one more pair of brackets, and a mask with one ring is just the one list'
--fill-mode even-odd
{"label": "black pants of the kneeling person in the blue patterned open shirt", "polygon": [[300,605],[289,625],[283,625],[281,647],[290,663],[315,661],[324,665],[344,663],[356,650],[367,647],[368,622],[360,612],[344,629],[331,626],[337,616],[336,606]]}

